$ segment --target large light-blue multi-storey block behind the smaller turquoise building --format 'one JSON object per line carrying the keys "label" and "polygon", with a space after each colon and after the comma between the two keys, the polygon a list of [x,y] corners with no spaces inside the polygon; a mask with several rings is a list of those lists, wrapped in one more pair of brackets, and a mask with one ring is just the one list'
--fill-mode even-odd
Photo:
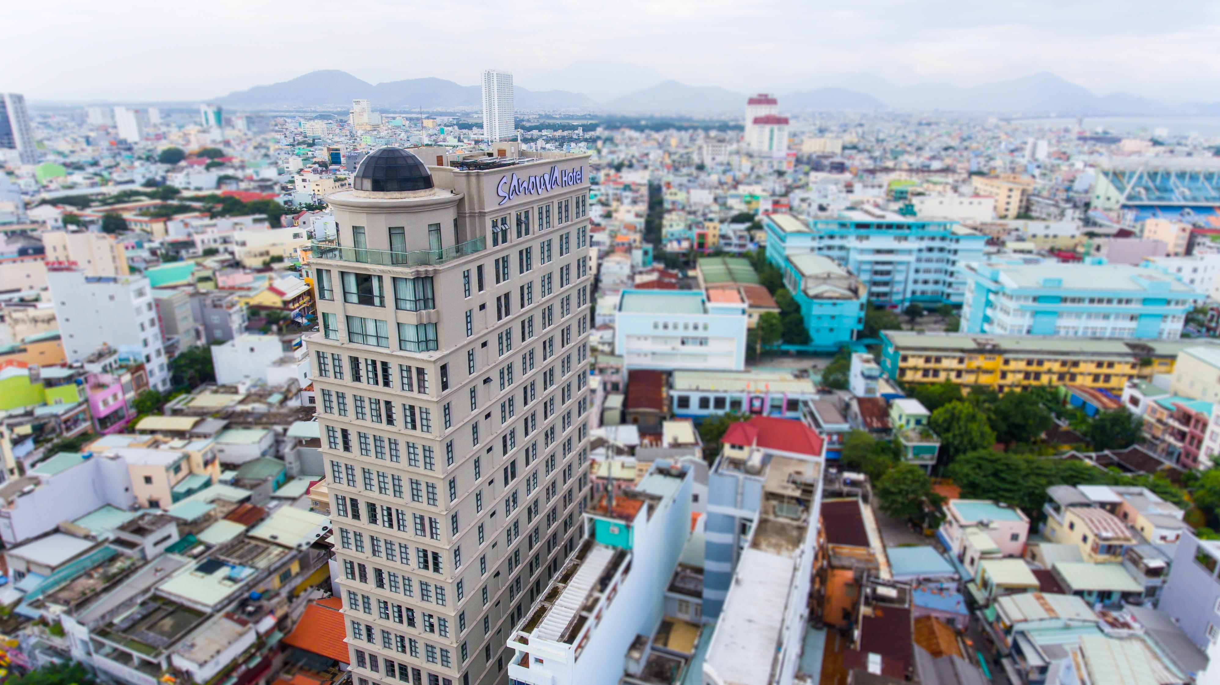
{"label": "large light-blue multi-storey block behind the smaller turquoise building", "polygon": [[821,255],[859,278],[870,302],[960,305],[966,280],[959,266],[983,258],[987,236],[950,221],[925,221],[874,207],[838,218],[762,217],[767,261],[784,271],[793,255]]}

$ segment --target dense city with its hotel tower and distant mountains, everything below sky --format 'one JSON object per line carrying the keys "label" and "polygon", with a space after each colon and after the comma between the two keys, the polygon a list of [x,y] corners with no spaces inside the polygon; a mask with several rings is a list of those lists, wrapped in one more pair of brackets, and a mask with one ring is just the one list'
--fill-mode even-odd
{"label": "dense city with its hotel tower and distant mountains, everything below sky", "polygon": [[416,80],[0,94],[0,679],[1220,684],[1205,112]]}

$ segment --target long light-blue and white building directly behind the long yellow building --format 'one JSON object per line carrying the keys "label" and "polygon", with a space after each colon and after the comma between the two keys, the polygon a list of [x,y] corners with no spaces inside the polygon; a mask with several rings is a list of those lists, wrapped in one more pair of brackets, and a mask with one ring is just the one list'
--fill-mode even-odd
{"label": "long light-blue and white building directly behind the long yellow building", "polygon": [[1207,299],[1130,264],[980,262],[961,273],[961,333],[1177,340],[1186,314]]}

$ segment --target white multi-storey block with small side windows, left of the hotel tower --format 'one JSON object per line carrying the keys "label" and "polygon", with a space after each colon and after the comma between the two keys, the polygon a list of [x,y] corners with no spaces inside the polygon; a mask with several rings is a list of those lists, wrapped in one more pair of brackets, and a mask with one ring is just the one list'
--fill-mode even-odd
{"label": "white multi-storey block with small side windows, left of the hotel tower", "polygon": [[152,289],[144,277],[92,277],[78,269],[48,271],[63,355],[82,362],[101,345],[122,355],[139,356],[149,372],[149,385],[170,389],[161,327],[156,321]]}

